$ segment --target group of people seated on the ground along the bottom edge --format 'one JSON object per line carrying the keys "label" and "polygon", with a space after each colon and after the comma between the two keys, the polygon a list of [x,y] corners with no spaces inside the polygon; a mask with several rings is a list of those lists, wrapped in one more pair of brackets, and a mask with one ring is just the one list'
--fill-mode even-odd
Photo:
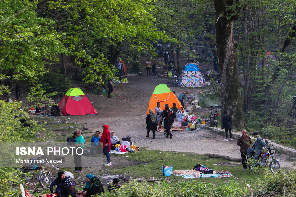
{"label": "group of people seated on the ground along the bottom edge", "polygon": [[[40,195],[40,197],[90,197],[95,194],[105,193],[104,185],[101,183],[98,177],[92,174],[86,175],[86,185],[80,192],[76,191],[73,181],[70,177],[65,176],[64,172],[58,172],[57,176],[58,177],[50,184],[50,194]],[[121,188],[122,185],[119,185],[118,183],[119,179],[114,178],[113,184],[108,186],[109,192]],[[56,186],[55,191],[54,186]]]}

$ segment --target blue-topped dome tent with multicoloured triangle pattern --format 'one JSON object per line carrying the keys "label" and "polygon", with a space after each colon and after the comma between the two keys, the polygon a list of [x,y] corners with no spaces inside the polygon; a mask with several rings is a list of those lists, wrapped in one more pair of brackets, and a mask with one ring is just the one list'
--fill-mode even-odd
{"label": "blue-topped dome tent with multicoloured triangle pattern", "polygon": [[193,63],[184,66],[178,84],[180,87],[202,87],[205,85],[200,69]]}

